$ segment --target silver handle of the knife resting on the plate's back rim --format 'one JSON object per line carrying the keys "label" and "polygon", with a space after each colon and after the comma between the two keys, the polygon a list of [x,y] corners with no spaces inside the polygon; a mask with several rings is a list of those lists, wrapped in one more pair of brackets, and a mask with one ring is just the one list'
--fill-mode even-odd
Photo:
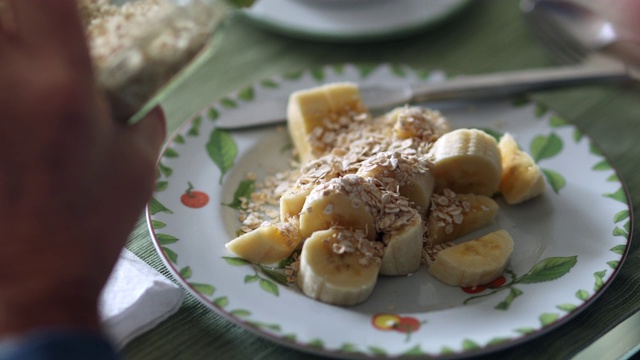
{"label": "silver handle of the knife resting on the plate's back rim", "polygon": [[608,61],[606,66],[562,66],[503,72],[499,74],[460,76],[446,82],[412,85],[411,102],[451,99],[483,99],[527,93],[572,85],[630,81],[627,68]]}

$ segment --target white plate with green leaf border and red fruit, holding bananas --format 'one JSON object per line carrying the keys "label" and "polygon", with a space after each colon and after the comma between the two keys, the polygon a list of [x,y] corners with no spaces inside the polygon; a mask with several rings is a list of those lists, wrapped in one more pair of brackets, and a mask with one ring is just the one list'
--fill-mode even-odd
{"label": "white plate with green leaf border and red fruit, holding bananas", "polygon": [[[226,132],[216,120],[251,101],[321,83],[425,81],[406,66],[331,66],[285,74],[242,89],[189,119],[171,138],[147,210],[154,244],[185,288],[213,311],[257,334],[339,357],[466,356],[513,346],[568,321],[612,280],[629,245],[628,195],[591,140],[557,114],[527,101],[441,108],[454,127],[512,133],[547,175],[547,191],[501,210],[515,251],[504,284],[469,294],[423,268],[381,278],[355,307],[311,300],[225,248],[240,227],[229,204],[249,172],[284,169],[280,127]],[[194,198],[181,201],[189,184]],[[208,198],[206,204],[199,200]],[[192,202],[195,202],[192,203]],[[469,238],[467,237],[467,238]]]}

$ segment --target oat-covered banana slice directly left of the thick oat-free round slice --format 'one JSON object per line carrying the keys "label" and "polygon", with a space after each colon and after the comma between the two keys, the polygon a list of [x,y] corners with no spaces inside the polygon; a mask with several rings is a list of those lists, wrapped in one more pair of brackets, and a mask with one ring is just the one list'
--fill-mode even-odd
{"label": "oat-covered banana slice directly left of the thick oat-free round slice", "polygon": [[399,191],[423,209],[429,208],[435,179],[413,149],[380,152],[365,160],[356,175],[374,178],[387,190]]}

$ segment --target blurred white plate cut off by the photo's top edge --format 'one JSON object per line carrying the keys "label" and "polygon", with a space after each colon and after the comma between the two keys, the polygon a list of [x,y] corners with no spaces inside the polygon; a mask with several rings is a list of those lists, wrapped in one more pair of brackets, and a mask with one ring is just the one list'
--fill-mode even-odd
{"label": "blurred white plate cut off by the photo's top edge", "polygon": [[260,0],[243,12],[286,35],[332,41],[406,35],[435,25],[469,0]]}

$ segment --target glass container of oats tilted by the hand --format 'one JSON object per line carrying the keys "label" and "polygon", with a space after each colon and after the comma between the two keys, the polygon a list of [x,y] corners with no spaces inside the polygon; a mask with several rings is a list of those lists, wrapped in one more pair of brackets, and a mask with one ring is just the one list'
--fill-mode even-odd
{"label": "glass container of oats tilted by the hand", "polygon": [[136,121],[208,58],[231,0],[79,0],[98,85]]}

